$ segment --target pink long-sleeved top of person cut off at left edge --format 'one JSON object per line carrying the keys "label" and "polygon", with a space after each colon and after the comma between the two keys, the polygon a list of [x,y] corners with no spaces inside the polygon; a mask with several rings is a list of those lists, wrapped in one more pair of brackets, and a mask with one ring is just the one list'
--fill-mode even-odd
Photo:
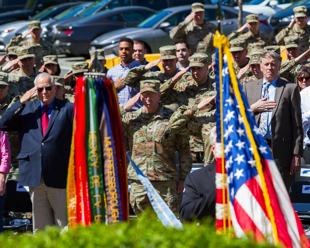
{"label": "pink long-sleeved top of person cut off at left edge", "polygon": [[11,149],[7,134],[0,131],[0,172],[10,173]]}

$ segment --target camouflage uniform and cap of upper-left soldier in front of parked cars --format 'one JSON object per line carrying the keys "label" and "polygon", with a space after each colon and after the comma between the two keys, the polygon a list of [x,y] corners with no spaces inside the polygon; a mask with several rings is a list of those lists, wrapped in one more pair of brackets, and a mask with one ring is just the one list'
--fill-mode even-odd
{"label": "camouflage uniform and cap of upper-left soldier in front of parked cars", "polygon": [[[29,29],[41,29],[41,22],[40,21],[31,21],[28,24]],[[40,43],[34,43],[31,38],[28,40],[23,41],[21,35],[17,35],[11,38],[10,42],[5,46],[5,51],[7,51],[8,47],[11,46],[31,46],[33,47],[33,53],[36,59],[36,66],[38,69],[41,68],[43,65],[43,57],[47,55],[56,55],[55,49],[53,45],[42,39]]]}

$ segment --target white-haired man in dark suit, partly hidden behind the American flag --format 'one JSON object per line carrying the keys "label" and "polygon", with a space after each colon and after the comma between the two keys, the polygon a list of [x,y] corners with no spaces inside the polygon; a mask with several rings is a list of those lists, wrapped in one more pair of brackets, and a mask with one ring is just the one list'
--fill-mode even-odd
{"label": "white-haired man in dark suit, partly hidden behind the American flag", "polygon": [[[215,155],[216,126],[210,131],[210,143]],[[215,216],[215,160],[208,166],[195,170],[186,176],[184,193],[179,207],[181,222]]]}

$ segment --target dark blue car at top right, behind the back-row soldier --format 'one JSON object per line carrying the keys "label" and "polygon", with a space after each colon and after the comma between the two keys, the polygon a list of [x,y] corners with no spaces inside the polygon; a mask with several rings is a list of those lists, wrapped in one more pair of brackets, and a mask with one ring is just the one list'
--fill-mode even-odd
{"label": "dark blue car at top right, behind the back-row soldier", "polygon": [[269,24],[275,29],[275,33],[279,33],[281,29],[285,28],[294,19],[293,8],[304,5],[307,7],[307,15],[310,16],[310,0],[301,0],[294,2],[290,7],[270,16],[268,18]]}

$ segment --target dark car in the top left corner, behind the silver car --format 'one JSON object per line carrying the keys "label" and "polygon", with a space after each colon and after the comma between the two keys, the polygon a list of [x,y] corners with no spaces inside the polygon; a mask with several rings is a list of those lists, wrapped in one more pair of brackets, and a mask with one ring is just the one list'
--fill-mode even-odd
{"label": "dark car in the top left corner, behind the silver car", "polygon": [[[28,0],[23,10],[8,11],[0,14],[0,24],[18,20],[28,20],[29,17],[44,11],[46,8],[60,3],[78,2],[80,0]],[[89,2],[90,0],[84,0]],[[108,0],[107,0],[108,1]],[[59,12],[60,13],[60,12]]]}

